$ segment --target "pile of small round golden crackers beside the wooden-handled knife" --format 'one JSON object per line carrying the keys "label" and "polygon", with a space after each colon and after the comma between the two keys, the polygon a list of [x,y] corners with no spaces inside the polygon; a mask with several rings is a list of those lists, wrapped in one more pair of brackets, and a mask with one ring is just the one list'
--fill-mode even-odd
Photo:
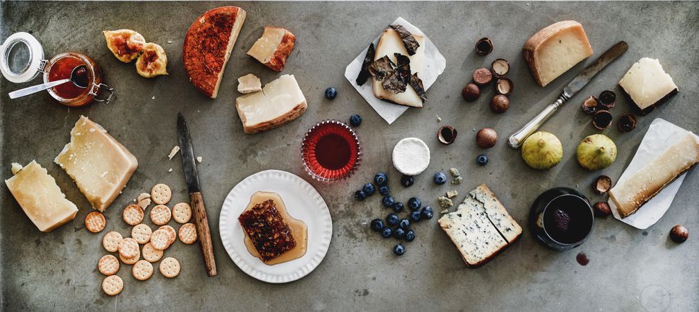
{"label": "pile of small round golden crackers beside the wooden-handled knife", "polygon": [[[102,237],[102,246],[110,253],[119,253],[119,259],[115,255],[108,254],[100,258],[97,263],[99,272],[106,275],[102,281],[102,290],[107,295],[118,295],[124,289],[124,281],[117,276],[120,268],[120,260],[124,265],[133,265],[131,274],[138,281],[145,281],[153,275],[152,263],[160,261],[164,251],[170,247],[175,240],[180,237],[180,242],[194,244],[196,242],[196,228],[194,223],[188,223],[192,218],[192,207],[186,202],[180,202],[167,207],[167,203],[172,198],[172,191],[166,184],[153,186],[149,193],[142,193],[136,198],[136,204],[128,205],[122,212],[124,222],[132,225],[131,237],[122,237],[119,232],[108,232]],[[156,230],[152,230],[149,225],[141,223],[143,221],[144,210],[150,206],[151,202],[156,204],[150,209],[150,220],[155,225],[160,225]],[[180,225],[180,230],[175,229],[167,223],[174,218]],[[106,226],[103,214],[93,211],[85,217],[85,228],[90,232],[101,232]],[[141,246],[143,245],[143,246]],[[140,259],[143,255],[143,260]],[[173,278],[180,274],[180,262],[172,257],[164,258],[160,261],[159,271],[166,278]]]}

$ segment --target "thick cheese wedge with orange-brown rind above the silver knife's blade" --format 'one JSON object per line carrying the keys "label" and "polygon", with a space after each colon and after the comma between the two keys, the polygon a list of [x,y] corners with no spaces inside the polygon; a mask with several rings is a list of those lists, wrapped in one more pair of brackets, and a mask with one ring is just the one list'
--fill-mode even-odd
{"label": "thick cheese wedge with orange-brown rind above the silver knife's blade", "polygon": [[524,43],[524,59],[536,83],[546,87],[572,66],[592,55],[582,25],[572,20],[551,24]]}

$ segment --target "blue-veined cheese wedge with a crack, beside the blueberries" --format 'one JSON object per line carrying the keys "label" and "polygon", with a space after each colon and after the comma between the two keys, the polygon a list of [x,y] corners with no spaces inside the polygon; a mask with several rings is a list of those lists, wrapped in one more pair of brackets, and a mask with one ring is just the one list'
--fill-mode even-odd
{"label": "blue-veined cheese wedge with a crack, beside the blueberries", "polygon": [[471,191],[456,211],[439,221],[468,267],[480,267],[512,244],[521,227],[485,184]]}

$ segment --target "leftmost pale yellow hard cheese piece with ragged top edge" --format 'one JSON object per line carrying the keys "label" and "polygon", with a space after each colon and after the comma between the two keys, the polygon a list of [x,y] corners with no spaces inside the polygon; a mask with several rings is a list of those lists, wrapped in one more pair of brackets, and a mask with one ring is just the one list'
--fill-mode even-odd
{"label": "leftmost pale yellow hard cheese piece with ragged top edge", "polygon": [[13,177],[6,179],[5,184],[41,232],[51,232],[73,220],[78,213],[78,207],[66,200],[56,180],[36,161],[31,161]]}

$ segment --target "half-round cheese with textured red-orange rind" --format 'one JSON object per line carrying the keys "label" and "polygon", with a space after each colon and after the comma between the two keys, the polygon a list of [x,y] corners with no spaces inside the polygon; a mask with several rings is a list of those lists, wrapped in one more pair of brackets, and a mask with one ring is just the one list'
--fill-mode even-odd
{"label": "half-round cheese with textured red-orange rind", "polygon": [[216,98],[233,45],[245,22],[245,10],[222,6],[208,10],[187,31],[182,59],[189,81],[201,93]]}

